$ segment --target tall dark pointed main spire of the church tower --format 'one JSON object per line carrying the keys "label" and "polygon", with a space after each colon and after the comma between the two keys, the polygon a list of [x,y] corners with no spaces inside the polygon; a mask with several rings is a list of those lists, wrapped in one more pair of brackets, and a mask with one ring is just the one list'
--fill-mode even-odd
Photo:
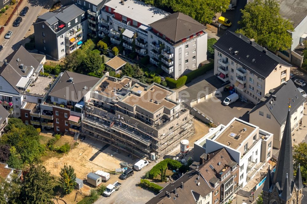
{"label": "tall dark pointed main spire of the church tower", "polygon": [[[282,143],[280,146],[276,171],[274,173],[273,179],[273,184],[279,184],[280,191],[284,189],[285,185],[290,185],[292,188],[294,183],[290,108],[291,106],[289,105],[286,125],[284,129],[284,134],[282,136]],[[288,178],[286,179],[287,175]],[[286,180],[288,181],[288,183],[285,184]],[[289,190],[291,190],[292,192],[292,189],[289,188]]]}

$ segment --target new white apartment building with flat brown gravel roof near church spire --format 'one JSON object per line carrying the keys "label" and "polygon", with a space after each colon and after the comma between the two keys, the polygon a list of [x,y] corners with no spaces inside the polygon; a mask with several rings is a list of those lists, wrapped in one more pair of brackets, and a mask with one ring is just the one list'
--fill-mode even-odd
{"label": "new white apartment building with flat brown gravel roof near church spire", "polygon": [[203,153],[227,149],[240,166],[239,185],[244,187],[272,157],[272,141],[272,133],[234,118],[194,143],[194,160]]}

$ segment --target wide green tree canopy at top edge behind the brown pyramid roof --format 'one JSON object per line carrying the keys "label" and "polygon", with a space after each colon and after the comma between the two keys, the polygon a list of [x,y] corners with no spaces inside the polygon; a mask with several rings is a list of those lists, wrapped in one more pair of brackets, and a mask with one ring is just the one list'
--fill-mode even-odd
{"label": "wide green tree canopy at top edge behind the brown pyramid roof", "polygon": [[184,13],[202,24],[211,23],[215,13],[225,12],[230,0],[145,0],[157,7],[169,7],[174,12]]}

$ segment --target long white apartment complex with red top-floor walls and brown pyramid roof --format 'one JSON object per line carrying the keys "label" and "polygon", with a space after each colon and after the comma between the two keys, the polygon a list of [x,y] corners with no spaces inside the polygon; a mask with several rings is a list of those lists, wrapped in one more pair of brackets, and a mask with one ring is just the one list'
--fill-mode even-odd
{"label": "long white apartment complex with red top-floor walls and brown pyramid roof", "polygon": [[98,36],[109,35],[125,54],[149,55],[151,63],[175,79],[207,60],[205,26],[183,13],[169,14],[141,1],[112,0],[98,21]]}

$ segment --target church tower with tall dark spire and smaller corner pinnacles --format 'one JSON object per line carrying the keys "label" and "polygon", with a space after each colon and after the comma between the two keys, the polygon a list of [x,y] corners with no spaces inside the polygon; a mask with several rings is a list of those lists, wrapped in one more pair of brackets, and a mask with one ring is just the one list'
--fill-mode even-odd
{"label": "church tower with tall dark spire and smaller corner pinnacles", "polygon": [[268,169],[263,185],[263,204],[301,204],[303,182],[300,167],[293,176],[290,108],[286,119],[282,143],[275,172]]}

